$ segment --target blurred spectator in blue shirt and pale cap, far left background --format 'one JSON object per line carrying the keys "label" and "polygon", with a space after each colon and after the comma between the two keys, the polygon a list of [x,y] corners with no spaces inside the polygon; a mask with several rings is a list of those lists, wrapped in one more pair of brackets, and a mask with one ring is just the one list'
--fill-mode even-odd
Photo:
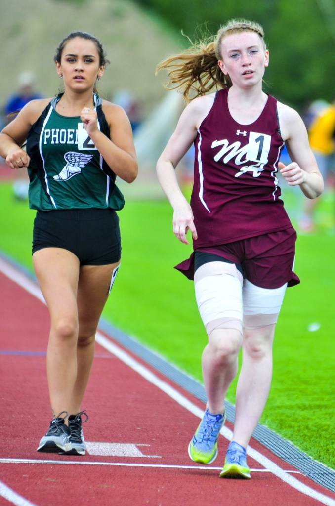
{"label": "blurred spectator in blue shirt and pale cap, far left background", "polygon": [[[23,106],[30,100],[42,98],[34,92],[34,74],[31,71],[22,72],[18,77],[18,89],[11,95],[4,107],[4,123],[7,124],[15,117]],[[26,168],[17,168],[14,171],[13,191],[18,200],[28,198],[29,178]]]}

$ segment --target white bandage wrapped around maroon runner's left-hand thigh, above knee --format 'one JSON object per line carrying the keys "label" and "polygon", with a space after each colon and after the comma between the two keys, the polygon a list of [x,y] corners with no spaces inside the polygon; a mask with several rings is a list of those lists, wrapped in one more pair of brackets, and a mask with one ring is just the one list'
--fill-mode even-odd
{"label": "white bandage wrapped around maroon runner's left-hand thigh, above knee", "polygon": [[208,335],[219,327],[242,333],[242,282],[235,264],[209,262],[196,270],[195,298]]}

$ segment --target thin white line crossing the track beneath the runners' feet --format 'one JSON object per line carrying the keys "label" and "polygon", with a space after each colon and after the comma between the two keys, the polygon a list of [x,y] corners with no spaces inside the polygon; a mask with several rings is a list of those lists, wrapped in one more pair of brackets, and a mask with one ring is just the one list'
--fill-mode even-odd
{"label": "thin white line crossing the track beneath the runners' feet", "polygon": [[[74,466],[120,466],[125,468],[154,468],[154,469],[191,469],[198,471],[221,471],[214,466],[178,466],[176,464],[147,464],[142,462],[99,462],[97,460],[41,460],[35,458],[0,458],[0,463],[15,464],[65,464]],[[271,473],[269,469],[250,469],[254,473]],[[300,471],[284,471],[284,473],[302,474]]]}

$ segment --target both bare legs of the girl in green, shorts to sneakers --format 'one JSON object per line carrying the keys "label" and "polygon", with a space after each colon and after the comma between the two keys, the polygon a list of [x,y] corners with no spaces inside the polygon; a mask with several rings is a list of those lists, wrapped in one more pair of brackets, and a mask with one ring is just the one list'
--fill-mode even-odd
{"label": "both bare legs of the girl in green, shorts to sneakers", "polygon": [[80,411],[94,357],[96,329],[117,265],[79,268],[77,257],[62,248],[44,248],[33,254],[34,270],[51,317],[47,375],[56,416],[61,411]]}

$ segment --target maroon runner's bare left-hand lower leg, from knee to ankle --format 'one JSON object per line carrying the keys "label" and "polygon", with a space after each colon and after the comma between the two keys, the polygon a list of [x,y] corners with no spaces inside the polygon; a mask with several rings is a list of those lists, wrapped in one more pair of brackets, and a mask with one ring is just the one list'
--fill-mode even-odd
{"label": "maroon runner's bare left-hand lower leg, from knee to ankle", "polygon": [[225,396],[238,366],[242,336],[238,330],[218,328],[208,337],[202,353],[202,376],[211,413],[223,413]]}

